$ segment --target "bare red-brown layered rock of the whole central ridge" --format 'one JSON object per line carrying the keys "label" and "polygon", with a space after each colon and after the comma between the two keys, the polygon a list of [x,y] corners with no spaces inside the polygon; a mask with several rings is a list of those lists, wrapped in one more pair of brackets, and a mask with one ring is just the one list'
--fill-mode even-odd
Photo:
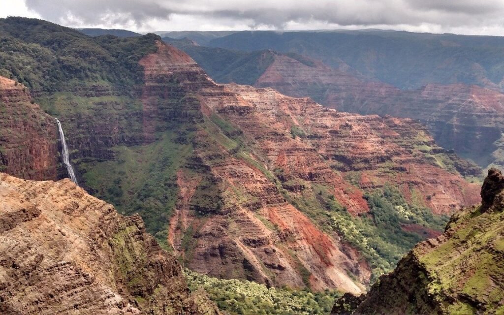
{"label": "bare red-brown layered rock of the whole central ridge", "polygon": [[[179,196],[168,235],[193,270],[275,286],[361,292],[370,271],[357,251],[336,233],[323,232],[287,197],[322,185],[357,215],[368,211],[364,189],[393,182],[410,195],[414,187],[436,213],[479,201],[476,186],[417,149],[444,152],[416,121],[340,113],[272,89],[216,85],[194,61],[158,45],[141,60],[143,106],[145,113],[158,111],[147,126],[169,113],[169,119],[191,123],[196,133],[192,166],[177,172]],[[175,89],[167,82],[179,85]],[[197,102],[168,105],[177,89],[192,93]],[[209,121],[227,123],[226,131]],[[347,181],[350,173],[358,174],[357,186]],[[220,207],[195,203],[203,178],[216,187]]]}

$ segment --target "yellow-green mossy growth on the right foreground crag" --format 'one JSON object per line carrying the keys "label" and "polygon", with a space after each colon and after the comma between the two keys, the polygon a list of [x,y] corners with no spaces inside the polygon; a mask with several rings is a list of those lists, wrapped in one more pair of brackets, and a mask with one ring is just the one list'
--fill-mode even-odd
{"label": "yellow-green mossy growth on the right foreground crag", "polygon": [[471,207],[450,220],[447,230],[450,238],[429,253],[419,255],[419,261],[434,280],[430,292],[439,301],[449,301],[450,295],[467,297],[453,305],[447,305],[452,313],[473,314],[474,305],[465,301],[485,304],[484,314],[495,314],[504,299],[504,242],[502,221],[504,212],[481,213],[479,207]]}

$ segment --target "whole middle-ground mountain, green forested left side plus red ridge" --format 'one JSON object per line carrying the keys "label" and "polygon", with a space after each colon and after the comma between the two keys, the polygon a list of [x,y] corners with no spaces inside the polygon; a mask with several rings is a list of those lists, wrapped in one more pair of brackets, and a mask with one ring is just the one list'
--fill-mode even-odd
{"label": "whole middle-ground mountain, green forested left side plus red ridge", "polygon": [[[477,184],[463,178],[480,169],[439,147],[416,120],[216,84],[153,34],[91,38],[16,18],[0,27],[9,49],[30,43],[54,60],[65,53],[64,65],[42,64],[45,80],[2,55],[16,70],[3,75],[23,74],[18,85],[32,92],[31,105],[61,121],[79,184],[120,213],[139,213],[191,270],[358,294],[417,241],[442,233],[448,215],[480,201]],[[65,47],[47,44],[61,37]],[[18,51],[27,64],[39,56]],[[102,62],[98,71],[90,54]],[[51,72],[75,64],[68,78]],[[10,141],[28,141],[22,135]],[[53,157],[40,161],[65,176]]]}

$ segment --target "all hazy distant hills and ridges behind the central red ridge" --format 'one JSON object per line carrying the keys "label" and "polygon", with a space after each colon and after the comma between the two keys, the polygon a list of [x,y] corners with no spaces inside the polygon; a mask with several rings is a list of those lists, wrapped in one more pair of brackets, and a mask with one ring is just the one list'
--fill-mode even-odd
{"label": "all hazy distant hills and ridges behind the central red ridge", "polygon": [[235,32],[207,46],[164,40],[217,82],[271,87],[345,112],[419,119],[440,146],[484,169],[502,166],[499,37],[362,30]]}

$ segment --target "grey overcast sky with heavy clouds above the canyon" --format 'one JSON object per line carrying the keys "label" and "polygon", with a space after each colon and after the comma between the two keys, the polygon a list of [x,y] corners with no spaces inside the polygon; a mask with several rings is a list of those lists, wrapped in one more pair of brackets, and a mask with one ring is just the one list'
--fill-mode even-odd
{"label": "grey overcast sky with heavy clouds above the canyon", "polygon": [[504,0],[0,0],[0,17],[137,32],[381,28],[504,36]]}

